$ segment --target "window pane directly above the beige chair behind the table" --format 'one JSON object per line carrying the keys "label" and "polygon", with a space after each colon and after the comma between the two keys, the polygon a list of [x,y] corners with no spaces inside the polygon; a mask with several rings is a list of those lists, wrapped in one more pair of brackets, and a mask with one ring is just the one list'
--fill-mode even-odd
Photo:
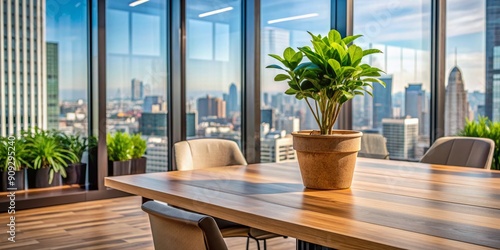
{"label": "window pane directly above the beige chair behind the table", "polygon": [[241,1],[186,1],[188,139],[241,144]]}

